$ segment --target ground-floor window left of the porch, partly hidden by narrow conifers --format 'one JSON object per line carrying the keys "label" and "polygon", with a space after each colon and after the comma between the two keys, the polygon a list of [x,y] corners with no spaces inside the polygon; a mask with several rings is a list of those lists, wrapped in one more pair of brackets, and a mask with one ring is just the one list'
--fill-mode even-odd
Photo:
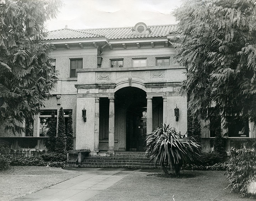
{"label": "ground-floor window left of the porch, partly hidden by narrow conifers", "polygon": [[49,122],[52,121],[52,113],[54,113],[55,118],[55,124],[57,128],[57,110],[41,110],[39,121],[40,121],[40,127],[39,127],[39,136],[45,137],[47,136],[47,131],[49,130]]}

